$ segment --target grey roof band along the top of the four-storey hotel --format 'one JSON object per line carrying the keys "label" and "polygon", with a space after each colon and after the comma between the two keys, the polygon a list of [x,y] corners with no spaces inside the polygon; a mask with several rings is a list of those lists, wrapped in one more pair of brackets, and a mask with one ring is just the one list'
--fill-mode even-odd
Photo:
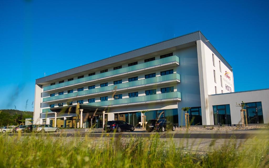
{"label": "grey roof band along the top of the four-storey hotel", "polygon": [[189,42],[194,42],[194,41],[197,41],[197,40],[203,41],[204,44],[206,44],[207,47],[210,48],[215,53],[215,55],[227,67],[229,67],[230,69],[232,68],[228,64],[228,62],[221,56],[221,54],[213,47],[213,45],[209,41],[206,42],[207,38],[204,37],[204,35],[200,31],[196,31],[196,32],[189,33],[189,34],[186,34],[186,35],[182,35],[182,36],[179,36],[179,37],[175,37],[175,38],[172,38],[172,39],[169,39],[169,40],[166,40],[166,41],[162,41],[162,42],[159,42],[159,43],[148,45],[146,47],[142,47],[142,48],[135,49],[135,50],[132,50],[132,51],[129,51],[129,52],[125,52],[125,53],[122,53],[122,54],[119,54],[119,55],[115,55],[115,56],[112,56],[112,57],[109,57],[109,58],[105,58],[105,59],[102,59],[102,60],[99,60],[99,61],[95,61],[95,62],[86,64],[86,65],[82,65],[82,66],[75,67],[75,68],[72,68],[72,69],[69,69],[69,70],[65,70],[65,71],[62,71],[62,72],[59,72],[59,73],[55,73],[55,74],[52,74],[52,75],[49,75],[49,76],[38,78],[38,79],[36,79],[36,84],[40,84],[40,83],[43,83],[43,82],[46,82],[46,81],[50,81],[50,80],[54,80],[54,79],[57,79],[57,78],[73,75],[73,74],[76,74],[76,73],[79,73],[79,72],[87,71],[87,70],[98,68],[98,67],[101,67],[101,66],[106,66],[106,65],[109,65],[109,64],[112,64],[112,63],[116,63],[116,62],[120,62],[120,61],[123,61],[123,60],[135,58],[135,57],[146,55],[146,54],[149,54],[149,53],[161,51],[161,50],[164,50],[164,49],[176,47],[176,46],[179,46],[179,45],[182,45],[182,44],[187,44]]}

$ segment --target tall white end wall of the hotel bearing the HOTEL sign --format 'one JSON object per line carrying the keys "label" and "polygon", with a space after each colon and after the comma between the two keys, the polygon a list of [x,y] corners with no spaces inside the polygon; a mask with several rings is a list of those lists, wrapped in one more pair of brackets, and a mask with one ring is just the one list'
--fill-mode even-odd
{"label": "tall white end wall of the hotel bearing the HOTEL sign", "polygon": [[[213,65],[213,57],[214,62]],[[210,106],[208,95],[215,94],[215,87],[217,87],[217,93],[234,92],[233,86],[233,74],[228,67],[213,53],[201,40],[197,41],[197,56],[198,56],[198,69],[199,69],[199,82],[200,82],[200,100],[202,110],[202,122],[203,125],[213,125],[213,115],[210,115]],[[221,63],[221,70],[220,64]],[[214,70],[216,74],[216,82],[214,80]],[[225,71],[228,76],[225,76]],[[222,76],[222,86],[221,77]],[[227,90],[226,85],[229,85]]]}

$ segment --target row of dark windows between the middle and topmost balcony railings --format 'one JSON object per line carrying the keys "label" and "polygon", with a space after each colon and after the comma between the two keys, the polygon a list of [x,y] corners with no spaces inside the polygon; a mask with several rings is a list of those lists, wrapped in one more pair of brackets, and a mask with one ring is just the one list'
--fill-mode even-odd
{"label": "row of dark windows between the middle and topmost balcony railings", "polygon": [[[172,74],[172,73],[174,73],[174,70],[173,70],[173,69],[171,69],[171,70],[166,70],[166,71],[162,71],[162,72],[161,72],[161,76],[163,76],[163,75],[168,75],[168,74]],[[147,75],[145,75],[145,78],[146,78],[146,79],[147,79],[147,78],[153,78],[153,77],[156,77],[156,73],[151,73],[151,74],[147,74]],[[138,76],[128,78],[128,81],[129,81],[129,82],[136,81],[136,80],[138,80]],[[121,83],[122,83],[122,80],[114,81],[114,85],[116,85],[116,84],[121,84]],[[105,87],[105,86],[108,86],[108,83],[107,83],[107,82],[106,82],[106,83],[101,83],[101,84],[100,84],[100,87]],[[89,86],[89,87],[88,87],[88,89],[94,89],[94,88],[95,88],[95,85],[92,85],[92,86]],[[84,87],[82,87],[82,88],[78,88],[78,89],[77,89],[78,92],[79,92],[79,91],[83,91],[83,90],[84,90]],[[73,93],[73,89],[72,89],[72,90],[68,90],[67,93]],[[58,94],[59,94],[59,95],[63,95],[63,92],[59,92]],[[50,94],[50,96],[51,96],[51,97],[52,97],[52,96],[55,96],[55,93]]]}

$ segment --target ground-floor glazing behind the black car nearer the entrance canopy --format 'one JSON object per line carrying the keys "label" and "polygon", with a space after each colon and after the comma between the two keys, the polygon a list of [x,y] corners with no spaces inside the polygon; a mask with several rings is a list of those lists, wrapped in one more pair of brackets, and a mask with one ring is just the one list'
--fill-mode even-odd
{"label": "ground-floor glazing behind the black car nearer the entrance canopy", "polygon": [[140,128],[141,112],[132,113],[116,113],[114,114],[114,120],[123,120],[126,123],[133,125],[135,128]]}

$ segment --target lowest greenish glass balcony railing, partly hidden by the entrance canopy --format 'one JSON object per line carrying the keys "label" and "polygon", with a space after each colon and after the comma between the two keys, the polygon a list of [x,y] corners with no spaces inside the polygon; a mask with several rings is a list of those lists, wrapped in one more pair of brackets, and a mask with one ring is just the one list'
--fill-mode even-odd
{"label": "lowest greenish glass balcony railing, partly hidden by the entrance canopy", "polygon": [[[94,102],[94,103],[86,103],[86,105],[91,106],[113,106],[119,104],[130,104],[130,103],[139,103],[139,102],[147,102],[147,101],[157,101],[164,99],[181,99],[180,92],[169,92],[169,93],[161,93],[155,95],[147,95],[147,96],[138,96],[132,98],[125,99],[116,99],[116,100],[108,100],[102,102]],[[51,112],[50,109],[43,109],[42,113]]]}

